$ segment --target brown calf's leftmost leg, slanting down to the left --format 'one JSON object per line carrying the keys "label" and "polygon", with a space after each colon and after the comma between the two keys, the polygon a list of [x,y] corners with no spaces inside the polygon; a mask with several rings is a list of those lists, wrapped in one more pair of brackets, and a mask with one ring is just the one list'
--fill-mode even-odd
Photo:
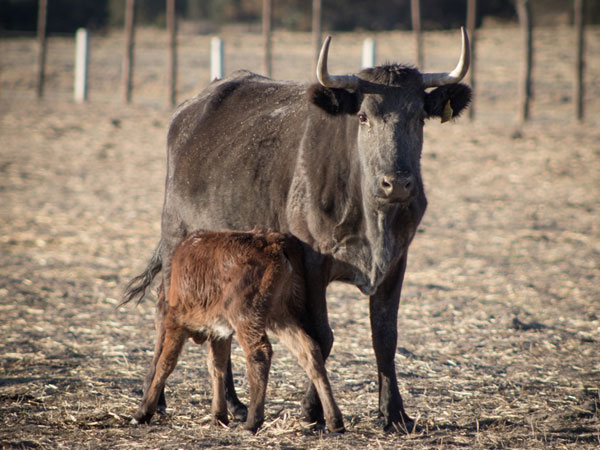
{"label": "brown calf's leftmost leg, slanting down to the left", "polygon": [[163,344],[156,362],[154,377],[144,393],[142,404],[131,420],[132,424],[150,422],[150,418],[156,412],[158,400],[161,393],[163,393],[167,377],[177,365],[177,358],[181,353],[185,339],[186,335],[180,328],[165,327]]}

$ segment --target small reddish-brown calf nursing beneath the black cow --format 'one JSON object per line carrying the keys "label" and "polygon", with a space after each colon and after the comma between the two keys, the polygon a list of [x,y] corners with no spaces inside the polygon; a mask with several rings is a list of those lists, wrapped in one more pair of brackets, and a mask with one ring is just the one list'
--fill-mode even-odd
{"label": "small reddish-brown calf nursing beneath the black cow", "polygon": [[132,423],[147,423],[156,412],[165,381],[188,337],[209,343],[212,414],[228,422],[225,374],[234,331],[248,365],[250,407],[244,428],[264,421],[272,349],[266,330],[292,351],[315,385],[327,428],[343,431],[317,343],[309,336],[304,296],[302,245],[275,232],[196,232],[173,254],[168,308],[157,323],[152,367],[142,404]]}

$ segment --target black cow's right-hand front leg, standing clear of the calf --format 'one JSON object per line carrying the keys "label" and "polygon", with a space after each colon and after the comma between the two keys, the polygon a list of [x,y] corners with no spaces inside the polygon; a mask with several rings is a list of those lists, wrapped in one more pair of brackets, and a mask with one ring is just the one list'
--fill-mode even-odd
{"label": "black cow's right-hand front leg, standing clear of the calf", "polygon": [[394,364],[398,339],[398,305],[405,270],[406,255],[371,296],[369,307],[379,378],[379,412],[385,420],[386,431],[410,433],[414,422],[404,411]]}

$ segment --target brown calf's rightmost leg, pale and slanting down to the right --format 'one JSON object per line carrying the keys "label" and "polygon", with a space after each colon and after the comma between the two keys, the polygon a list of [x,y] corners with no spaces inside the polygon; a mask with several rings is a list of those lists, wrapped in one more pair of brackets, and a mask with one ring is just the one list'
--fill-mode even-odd
{"label": "brown calf's rightmost leg, pale and slanting down to the right", "polygon": [[331,432],[343,432],[344,419],[333,398],[331,384],[327,378],[325,362],[317,343],[302,329],[300,324],[290,324],[280,329],[277,335],[298,359],[298,362],[312,381],[312,386],[314,386],[319,395],[325,414],[327,429]]}

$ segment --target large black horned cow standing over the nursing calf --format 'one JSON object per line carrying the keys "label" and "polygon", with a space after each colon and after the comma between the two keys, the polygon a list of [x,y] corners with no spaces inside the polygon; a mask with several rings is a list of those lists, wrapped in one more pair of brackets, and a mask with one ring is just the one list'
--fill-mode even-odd
{"label": "large black horned cow standing over the nursing calf", "polygon": [[[172,253],[195,229],[291,232],[306,247],[312,335],[323,356],[333,343],[327,285],[354,284],[370,296],[386,429],[410,430],[394,365],[398,304],[408,246],[427,206],[420,167],[425,119],[456,117],[471,99],[471,89],[459,83],[469,67],[462,33],[461,58],[450,73],[386,65],[332,76],[328,38],[317,84],[240,71],[183,103],[168,134],[161,239],[124,302],[141,300],[161,270],[162,292],[168,291]],[[161,294],[158,318],[166,307]],[[243,415],[231,365],[226,383],[230,410]],[[164,410],[164,395],[160,406]],[[323,422],[312,385],[303,409],[311,422]]]}

